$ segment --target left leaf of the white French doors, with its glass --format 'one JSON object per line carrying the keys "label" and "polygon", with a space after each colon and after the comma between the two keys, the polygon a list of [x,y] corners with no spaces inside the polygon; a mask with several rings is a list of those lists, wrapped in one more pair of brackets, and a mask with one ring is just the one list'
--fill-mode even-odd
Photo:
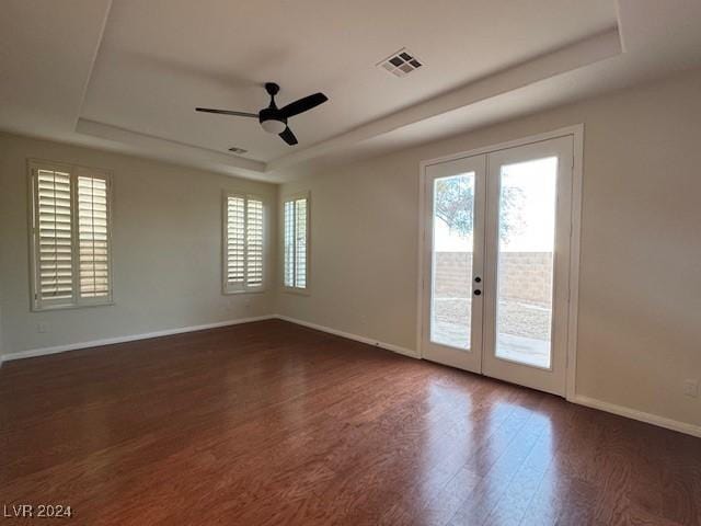
{"label": "left leaf of the white French doors, with its glass", "polygon": [[426,167],[423,356],[473,373],[482,370],[485,183],[485,156]]}

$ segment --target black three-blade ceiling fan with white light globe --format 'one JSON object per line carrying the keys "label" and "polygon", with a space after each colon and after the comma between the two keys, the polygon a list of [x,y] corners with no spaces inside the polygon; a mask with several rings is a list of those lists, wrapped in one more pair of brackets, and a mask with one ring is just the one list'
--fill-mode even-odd
{"label": "black three-blade ceiling fan with white light globe", "polygon": [[271,95],[271,104],[258,113],[232,112],[230,110],[212,110],[209,107],[196,107],[195,111],[257,118],[265,132],[268,134],[277,134],[285,142],[294,146],[297,144],[297,137],[295,137],[292,130],[287,126],[287,119],[300,113],[308,112],[312,107],[317,107],[319,104],[323,104],[329,100],[323,93],[314,93],[313,95],[290,102],[286,106],[277,107],[277,104],[275,104],[275,95],[280,91],[280,87],[275,82],[266,82],[265,91]]}

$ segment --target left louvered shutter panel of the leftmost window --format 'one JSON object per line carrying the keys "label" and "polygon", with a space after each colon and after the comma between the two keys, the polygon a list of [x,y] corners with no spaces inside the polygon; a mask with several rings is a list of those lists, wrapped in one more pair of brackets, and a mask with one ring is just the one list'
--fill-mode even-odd
{"label": "left louvered shutter panel of the leftmost window", "polygon": [[73,297],[70,173],[37,170],[35,180],[36,290],[46,304]]}

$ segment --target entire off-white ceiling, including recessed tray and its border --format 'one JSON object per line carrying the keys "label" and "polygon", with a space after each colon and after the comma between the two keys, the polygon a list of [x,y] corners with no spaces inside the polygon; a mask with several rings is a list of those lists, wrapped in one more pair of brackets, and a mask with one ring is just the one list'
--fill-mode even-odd
{"label": "entire off-white ceiling, including recessed tray and its border", "polygon": [[[0,128],[268,181],[701,61],[698,0],[5,0],[3,11]],[[425,67],[397,78],[375,66],[401,47]],[[330,98],[292,117],[296,147],[254,119],[194,112],[257,112],[265,81],[281,85],[279,104]]]}

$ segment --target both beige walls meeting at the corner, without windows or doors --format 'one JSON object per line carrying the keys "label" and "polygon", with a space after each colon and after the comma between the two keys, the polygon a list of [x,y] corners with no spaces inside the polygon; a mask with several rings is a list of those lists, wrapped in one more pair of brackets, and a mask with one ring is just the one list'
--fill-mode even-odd
{"label": "both beige walls meeting at the corner, without windows or doors", "polygon": [[[585,123],[577,392],[701,425],[701,71],[274,185],[0,135],[4,353],[278,312],[415,350],[418,163]],[[114,172],[114,306],[30,312],[26,158]],[[311,294],[220,293],[223,188],[311,190]],[[268,227],[277,220],[269,208]],[[268,239],[275,240],[275,228]],[[279,263],[279,259],[277,260]],[[273,275],[275,274],[275,275]],[[37,332],[46,323],[47,333]]]}

